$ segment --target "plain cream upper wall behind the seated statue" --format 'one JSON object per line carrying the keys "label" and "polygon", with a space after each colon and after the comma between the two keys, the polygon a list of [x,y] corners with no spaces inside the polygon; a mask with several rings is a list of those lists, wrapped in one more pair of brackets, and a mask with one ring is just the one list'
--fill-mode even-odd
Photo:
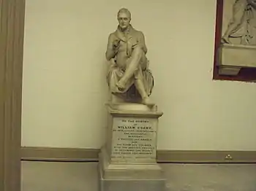
{"label": "plain cream upper wall behind the seated statue", "polygon": [[101,146],[105,48],[121,7],[146,35],[158,148],[255,150],[255,84],[212,80],[215,0],[27,0],[22,145]]}

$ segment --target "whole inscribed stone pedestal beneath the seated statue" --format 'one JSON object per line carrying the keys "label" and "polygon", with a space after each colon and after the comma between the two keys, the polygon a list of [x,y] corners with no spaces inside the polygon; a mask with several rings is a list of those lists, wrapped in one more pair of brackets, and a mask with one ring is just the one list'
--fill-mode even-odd
{"label": "whole inscribed stone pedestal beneath the seated statue", "polygon": [[100,191],[164,191],[157,164],[157,106],[107,104],[106,142],[99,154]]}

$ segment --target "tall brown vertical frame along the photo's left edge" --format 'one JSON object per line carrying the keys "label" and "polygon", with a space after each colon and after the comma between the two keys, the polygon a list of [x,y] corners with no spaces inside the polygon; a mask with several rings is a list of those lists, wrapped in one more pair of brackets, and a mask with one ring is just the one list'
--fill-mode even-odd
{"label": "tall brown vertical frame along the photo's left edge", "polygon": [[20,191],[25,0],[0,0],[0,190]]}

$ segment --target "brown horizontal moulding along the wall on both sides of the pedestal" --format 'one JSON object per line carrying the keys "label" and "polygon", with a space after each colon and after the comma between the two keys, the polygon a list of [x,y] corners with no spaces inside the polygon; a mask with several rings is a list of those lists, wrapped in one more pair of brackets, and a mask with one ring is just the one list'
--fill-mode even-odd
{"label": "brown horizontal moulding along the wall on both sides of the pedestal", "polygon": [[[97,162],[99,149],[21,147],[21,160]],[[158,163],[256,163],[256,151],[158,150]]]}

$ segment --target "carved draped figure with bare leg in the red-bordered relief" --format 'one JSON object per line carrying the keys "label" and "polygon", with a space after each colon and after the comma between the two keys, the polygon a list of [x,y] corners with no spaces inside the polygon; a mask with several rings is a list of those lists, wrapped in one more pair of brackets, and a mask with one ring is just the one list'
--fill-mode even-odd
{"label": "carved draped figure with bare leg in the red-bordered relief", "polygon": [[222,43],[234,44],[230,39],[239,39],[238,44],[256,45],[256,0],[235,1]]}

